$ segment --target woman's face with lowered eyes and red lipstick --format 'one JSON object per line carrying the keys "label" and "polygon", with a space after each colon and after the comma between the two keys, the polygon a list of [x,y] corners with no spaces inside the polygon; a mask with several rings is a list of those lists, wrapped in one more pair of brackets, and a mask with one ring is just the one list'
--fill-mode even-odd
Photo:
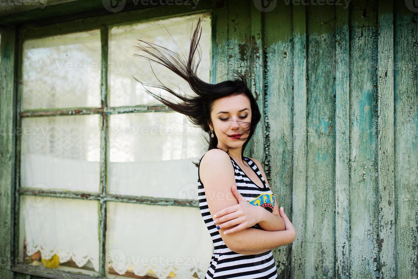
{"label": "woman's face with lowered eyes and red lipstick", "polygon": [[250,134],[250,100],[245,94],[219,98],[214,101],[211,119],[209,127],[220,147],[240,147]]}

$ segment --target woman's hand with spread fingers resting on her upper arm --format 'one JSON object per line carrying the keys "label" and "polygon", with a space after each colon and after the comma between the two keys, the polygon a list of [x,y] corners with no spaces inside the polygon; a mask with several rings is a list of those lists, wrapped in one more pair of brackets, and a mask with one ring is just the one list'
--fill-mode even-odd
{"label": "woman's hand with spread fingers resting on her upper arm", "polygon": [[[255,206],[249,203],[237,190],[235,185],[232,185],[232,193],[237,198],[238,204],[229,206],[214,214],[214,224],[217,228],[229,228],[238,225],[227,231],[224,234],[235,233],[245,228],[250,228],[261,221],[260,206]],[[218,229],[219,229],[218,228]]]}

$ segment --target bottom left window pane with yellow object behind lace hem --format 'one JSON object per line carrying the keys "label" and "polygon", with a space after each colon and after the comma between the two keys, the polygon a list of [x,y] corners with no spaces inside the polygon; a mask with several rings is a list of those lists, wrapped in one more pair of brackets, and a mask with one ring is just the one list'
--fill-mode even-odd
{"label": "bottom left window pane with yellow object behind lace hem", "polygon": [[21,251],[26,264],[97,276],[99,202],[20,196]]}

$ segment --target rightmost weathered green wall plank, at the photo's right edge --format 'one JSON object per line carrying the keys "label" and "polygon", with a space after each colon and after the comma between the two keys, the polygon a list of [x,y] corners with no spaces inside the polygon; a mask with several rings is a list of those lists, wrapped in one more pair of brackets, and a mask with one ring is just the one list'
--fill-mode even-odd
{"label": "rightmost weathered green wall plank, at the photo's right edge", "polygon": [[395,8],[396,277],[418,278],[418,14]]}

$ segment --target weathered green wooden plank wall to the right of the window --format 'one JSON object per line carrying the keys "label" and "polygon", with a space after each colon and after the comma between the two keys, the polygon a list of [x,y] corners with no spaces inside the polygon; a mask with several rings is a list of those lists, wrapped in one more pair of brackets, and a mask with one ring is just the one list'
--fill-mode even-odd
{"label": "weathered green wooden plank wall to the right of the window", "polygon": [[417,13],[232,0],[217,16],[217,82],[224,66],[251,81],[263,121],[246,154],[297,231],[279,277],[418,278]]}

